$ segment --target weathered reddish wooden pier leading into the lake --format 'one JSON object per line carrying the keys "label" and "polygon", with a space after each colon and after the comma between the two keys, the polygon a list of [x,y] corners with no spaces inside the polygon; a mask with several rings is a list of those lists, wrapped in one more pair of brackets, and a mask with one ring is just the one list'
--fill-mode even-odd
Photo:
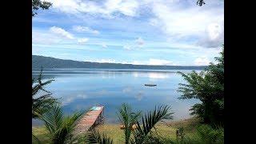
{"label": "weathered reddish wooden pier leading into the lake", "polygon": [[93,106],[82,118],[78,121],[75,127],[74,134],[82,134],[94,128],[103,122],[104,106]]}

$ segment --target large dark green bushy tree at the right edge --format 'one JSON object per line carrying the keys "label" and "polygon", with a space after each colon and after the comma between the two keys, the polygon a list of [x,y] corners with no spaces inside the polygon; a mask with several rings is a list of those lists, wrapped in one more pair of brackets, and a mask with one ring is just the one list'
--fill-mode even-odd
{"label": "large dark green bushy tree at the right edge", "polygon": [[190,110],[209,124],[223,124],[224,114],[224,45],[221,57],[215,58],[217,64],[210,63],[205,71],[182,74],[186,84],[179,84],[181,99],[197,98],[202,103],[195,104]]}

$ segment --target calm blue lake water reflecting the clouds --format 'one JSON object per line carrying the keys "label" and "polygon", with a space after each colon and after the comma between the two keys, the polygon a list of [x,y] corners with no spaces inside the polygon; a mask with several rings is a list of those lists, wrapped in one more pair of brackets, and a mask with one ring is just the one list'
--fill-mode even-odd
{"label": "calm blue lake water reflecting the clouds", "polygon": [[[143,112],[167,104],[172,107],[174,120],[189,118],[190,107],[198,101],[178,99],[178,83],[184,81],[177,71],[187,73],[191,70],[45,69],[43,74],[45,79],[54,78],[46,89],[55,98],[60,98],[66,114],[100,104],[106,106],[106,122],[115,123],[122,102]],[[33,70],[33,77],[38,73]],[[157,86],[144,86],[145,83]],[[34,126],[41,124],[33,120]]]}

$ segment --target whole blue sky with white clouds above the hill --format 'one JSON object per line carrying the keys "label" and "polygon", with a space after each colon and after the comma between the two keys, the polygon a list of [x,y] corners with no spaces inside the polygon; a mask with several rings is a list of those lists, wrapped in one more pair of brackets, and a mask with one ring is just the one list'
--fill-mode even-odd
{"label": "whole blue sky with white clouds above the hill", "polygon": [[224,42],[223,1],[48,0],[32,53],[90,62],[202,66]]}

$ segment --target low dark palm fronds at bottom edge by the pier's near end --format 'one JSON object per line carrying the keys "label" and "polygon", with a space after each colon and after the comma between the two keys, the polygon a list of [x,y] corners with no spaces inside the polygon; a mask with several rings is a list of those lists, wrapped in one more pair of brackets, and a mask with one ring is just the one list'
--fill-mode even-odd
{"label": "low dark palm fronds at bottom edge by the pier's near end", "polygon": [[96,130],[91,130],[90,133],[86,134],[86,143],[94,144],[112,144],[113,140],[108,138],[106,134],[99,134]]}

